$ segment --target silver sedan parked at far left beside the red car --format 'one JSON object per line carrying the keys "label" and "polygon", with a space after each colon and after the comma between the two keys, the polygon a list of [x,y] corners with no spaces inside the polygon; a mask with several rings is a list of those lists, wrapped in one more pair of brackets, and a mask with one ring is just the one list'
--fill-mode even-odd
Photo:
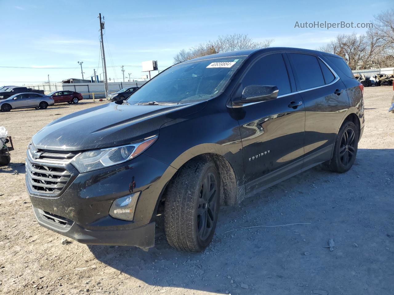
{"label": "silver sedan parked at far left beside the red car", "polygon": [[48,105],[53,105],[55,101],[52,97],[39,93],[18,93],[5,100],[0,100],[0,110],[9,112],[12,109],[36,108],[46,109]]}

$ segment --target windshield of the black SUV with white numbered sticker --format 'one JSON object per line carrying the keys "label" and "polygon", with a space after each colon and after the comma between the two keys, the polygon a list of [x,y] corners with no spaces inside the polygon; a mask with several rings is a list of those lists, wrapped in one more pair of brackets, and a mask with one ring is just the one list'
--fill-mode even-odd
{"label": "windshield of the black SUV with white numbered sticker", "polygon": [[245,56],[221,57],[174,65],[154,77],[128,103],[191,103],[208,100],[223,90]]}

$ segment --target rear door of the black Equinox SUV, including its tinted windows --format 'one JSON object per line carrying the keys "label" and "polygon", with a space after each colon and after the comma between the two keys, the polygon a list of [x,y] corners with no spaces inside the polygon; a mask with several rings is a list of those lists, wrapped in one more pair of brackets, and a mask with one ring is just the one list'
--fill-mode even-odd
{"label": "rear door of the black Equinox SUV, including its tinted windows", "polygon": [[288,53],[297,90],[305,103],[304,168],[331,159],[349,98],[344,83],[320,57]]}

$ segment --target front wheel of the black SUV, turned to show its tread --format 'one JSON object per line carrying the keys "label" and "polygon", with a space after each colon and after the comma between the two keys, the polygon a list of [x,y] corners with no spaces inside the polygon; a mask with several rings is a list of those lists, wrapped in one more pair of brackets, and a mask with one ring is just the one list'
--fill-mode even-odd
{"label": "front wheel of the black SUV, turned to show its tread", "polygon": [[191,160],[165,191],[164,225],[168,243],[201,252],[212,241],[219,214],[220,177],[214,163]]}

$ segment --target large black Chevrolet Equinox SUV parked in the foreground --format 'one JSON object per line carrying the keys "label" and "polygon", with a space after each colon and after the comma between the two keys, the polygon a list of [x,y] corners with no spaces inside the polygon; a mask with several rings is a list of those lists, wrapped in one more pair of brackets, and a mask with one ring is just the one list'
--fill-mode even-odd
{"label": "large black Chevrolet Equinox SUV parked in the foreground", "polygon": [[321,163],[348,171],[364,128],[362,95],[344,59],[313,50],[173,65],[128,100],[74,112],[33,136],[26,188],[35,216],[81,243],[147,249],[164,215],[171,246],[203,251],[219,206]]}

